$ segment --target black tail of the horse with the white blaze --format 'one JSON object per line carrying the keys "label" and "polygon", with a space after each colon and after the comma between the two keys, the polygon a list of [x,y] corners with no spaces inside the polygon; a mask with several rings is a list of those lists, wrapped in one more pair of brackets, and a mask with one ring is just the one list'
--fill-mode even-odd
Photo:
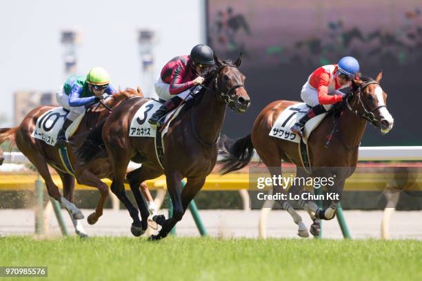
{"label": "black tail of the horse with the white blaze", "polygon": [[252,159],[254,155],[254,144],[250,138],[250,134],[244,138],[239,138],[237,141],[223,139],[220,143],[220,153],[222,159],[219,160],[221,174],[228,174],[230,171],[237,171],[242,169]]}

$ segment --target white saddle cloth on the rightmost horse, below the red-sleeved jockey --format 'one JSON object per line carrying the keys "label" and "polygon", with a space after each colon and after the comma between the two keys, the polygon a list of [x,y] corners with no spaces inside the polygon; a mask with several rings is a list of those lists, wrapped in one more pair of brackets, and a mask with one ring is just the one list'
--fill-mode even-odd
{"label": "white saddle cloth on the rightmost horse, below the red-sleeved jockey", "polygon": [[[274,136],[274,138],[281,138],[284,141],[291,141],[293,143],[300,143],[301,137],[294,132],[290,131],[290,127],[294,125],[297,121],[299,121],[302,116],[304,116],[310,107],[306,105],[306,103],[296,103],[294,105],[290,105],[287,107],[279,117],[277,121],[275,121],[274,125],[271,128],[269,136]],[[311,118],[305,124],[304,128],[304,137],[303,143],[308,144],[308,138],[312,131],[323,121],[323,118],[327,115],[327,113],[319,114],[314,118]]]}

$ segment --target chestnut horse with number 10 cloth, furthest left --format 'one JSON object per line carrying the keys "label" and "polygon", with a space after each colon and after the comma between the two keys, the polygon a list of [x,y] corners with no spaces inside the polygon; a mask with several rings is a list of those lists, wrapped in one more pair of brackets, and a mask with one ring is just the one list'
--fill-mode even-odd
{"label": "chestnut horse with number 10 cloth, furthest left", "polygon": [[[34,132],[38,118],[48,110],[57,106],[48,105],[36,107],[23,118],[23,121],[19,126],[0,129],[0,143],[3,143],[3,141],[11,141],[12,144],[16,144],[18,149],[30,160],[32,165],[37,168],[39,174],[46,182],[48,195],[61,202],[63,207],[68,210],[75,227],[75,232],[79,236],[84,237],[88,235],[78,221],[83,218],[83,214],[73,204],[74,179],[76,178],[77,182],[81,185],[96,187],[100,192],[98,205],[95,211],[90,214],[87,219],[88,223],[92,225],[102,216],[104,202],[108,196],[108,186],[100,179],[111,179],[113,170],[110,160],[104,157],[92,159],[89,163],[86,163],[86,165],[77,165],[77,158],[74,150],[78,144],[77,142],[74,142],[74,139],[86,136],[86,132],[89,132],[97,123],[109,116],[110,110],[114,110],[122,101],[134,96],[143,96],[139,87],[137,90],[126,89],[119,91],[109,98],[106,98],[106,100],[101,101],[98,105],[93,105],[90,110],[87,110],[77,131],[74,132],[74,135],[69,139],[68,156],[70,164],[74,168],[74,175],[70,174],[66,167],[64,167],[59,156],[59,149],[31,136],[32,132]],[[81,145],[81,143],[79,143],[79,145]],[[63,196],[61,196],[59,188],[52,180],[48,165],[56,170],[61,178],[61,182],[63,183]]]}

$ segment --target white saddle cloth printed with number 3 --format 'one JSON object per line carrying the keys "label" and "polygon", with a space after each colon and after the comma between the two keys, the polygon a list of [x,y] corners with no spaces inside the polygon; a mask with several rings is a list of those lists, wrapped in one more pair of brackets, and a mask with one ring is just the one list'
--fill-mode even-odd
{"label": "white saddle cloth printed with number 3", "polygon": [[[148,123],[148,119],[151,118],[152,114],[154,114],[154,112],[156,112],[161,105],[162,103],[155,100],[151,100],[144,103],[132,118],[132,121],[130,123],[129,136],[143,136],[154,138],[157,134],[157,127],[152,126],[150,123]],[[176,118],[183,106],[184,104],[177,108],[177,112],[174,115],[173,112],[176,111],[176,109],[172,110],[171,112],[168,112],[168,114],[165,115],[164,123],[168,121],[168,118],[170,118],[170,116],[172,116],[172,119]],[[170,122],[168,123],[168,125],[169,124]],[[168,125],[165,127],[165,129],[163,129],[163,132],[161,133],[162,136],[164,136],[164,134],[167,132]]]}

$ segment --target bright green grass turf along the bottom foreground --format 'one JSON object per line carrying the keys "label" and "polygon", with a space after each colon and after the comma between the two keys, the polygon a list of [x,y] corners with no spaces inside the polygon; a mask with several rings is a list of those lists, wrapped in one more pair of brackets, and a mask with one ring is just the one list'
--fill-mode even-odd
{"label": "bright green grass turf along the bottom foreground", "polygon": [[422,280],[422,241],[0,238],[0,266],[30,265],[48,280]]}

